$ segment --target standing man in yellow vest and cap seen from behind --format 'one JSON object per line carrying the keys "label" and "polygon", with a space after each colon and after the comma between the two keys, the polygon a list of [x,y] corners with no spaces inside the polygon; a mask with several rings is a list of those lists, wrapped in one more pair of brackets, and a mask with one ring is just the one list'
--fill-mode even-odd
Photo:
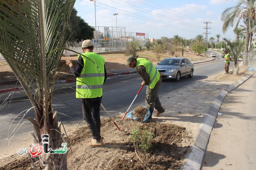
{"label": "standing man in yellow vest and cap seen from behind", "polygon": [[[71,59],[66,60],[70,71],[76,76],[76,98],[82,98],[82,113],[92,132],[92,140],[87,144],[90,147],[104,145],[100,135],[100,104],[102,100],[102,86],[107,74],[104,57],[93,53],[92,41],[87,39],[82,42],[84,53],[78,55],[76,68]],[[97,66],[90,61],[92,60]]]}

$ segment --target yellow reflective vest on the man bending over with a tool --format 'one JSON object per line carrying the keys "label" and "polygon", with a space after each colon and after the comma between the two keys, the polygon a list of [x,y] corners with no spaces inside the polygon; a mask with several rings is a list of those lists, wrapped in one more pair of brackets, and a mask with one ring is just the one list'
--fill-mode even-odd
{"label": "yellow reflective vest on the man bending over with a tool", "polygon": [[142,65],[146,68],[146,73],[149,76],[149,82],[148,82],[149,87],[151,89],[154,88],[156,83],[160,79],[160,74],[159,74],[158,70],[153,65],[153,63],[151,63],[150,61],[148,61],[147,59],[144,59],[144,58],[137,59],[136,68],[137,68],[137,66],[140,66],[140,65]]}

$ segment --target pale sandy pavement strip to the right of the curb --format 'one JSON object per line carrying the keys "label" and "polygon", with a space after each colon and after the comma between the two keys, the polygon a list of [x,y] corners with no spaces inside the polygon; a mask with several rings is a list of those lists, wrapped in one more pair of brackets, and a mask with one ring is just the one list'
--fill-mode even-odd
{"label": "pale sandy pavement strip to the right of the curb", "polygon": [[256,169],[256,76],[228,93],[214,123],[202,170]]}

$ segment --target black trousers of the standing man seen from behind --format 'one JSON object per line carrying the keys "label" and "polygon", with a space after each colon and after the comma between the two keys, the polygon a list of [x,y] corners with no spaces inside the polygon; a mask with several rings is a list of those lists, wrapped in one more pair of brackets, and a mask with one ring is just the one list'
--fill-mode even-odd
{"label": "black trousers of the standing man seen from behind", "polygon": [[84,120],[92,132],[92,137],[100,141],[100,103],[101,97],[97,98],[82,98],[82,111]]}

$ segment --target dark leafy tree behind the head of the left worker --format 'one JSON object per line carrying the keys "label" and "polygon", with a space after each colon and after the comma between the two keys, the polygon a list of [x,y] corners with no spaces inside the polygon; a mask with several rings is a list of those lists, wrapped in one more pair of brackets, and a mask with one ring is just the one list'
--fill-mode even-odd
{"label": "dark leafy tree behind the head of the left worker", "polygon": [[80,16],[77,16],[77,10],[73,8],[69,18],[68,43],[79,43],[85,39],[93,38],[93,27],[88,25]]}

